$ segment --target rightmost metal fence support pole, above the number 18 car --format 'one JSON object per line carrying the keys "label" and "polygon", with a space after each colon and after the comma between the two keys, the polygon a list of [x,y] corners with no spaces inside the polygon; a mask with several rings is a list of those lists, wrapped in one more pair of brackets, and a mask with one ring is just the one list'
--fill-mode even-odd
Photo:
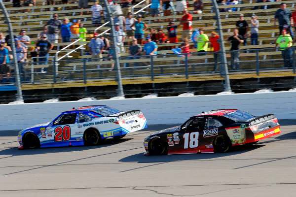
{"label": "rightmost metal fence support pole, above the number 18 car", "polygon": [[[224,40],[223,40],[223,32],[222,32],[222,24],[221,24],[221,17],[220,17],[220,10],[218,8],[218,4],[216,0],[212,0],[212,4],[214,5],[214,10],[216,12],[216,20],[217,20],[217,25],[218,25],[218,33],[219,33],[219,42],[220,42],[220,47],[221,47],[221,52],[222,52],[222,66],[224,67],[224,91],[231,91],[230,87],[230,81],[229,81],[229,75],[228,75],[228,67],[227,67],[227,60],[226,60],[226,52],[225,52],[225,45],[224,45]],[[220,68],[221,69],[221,68]]]}

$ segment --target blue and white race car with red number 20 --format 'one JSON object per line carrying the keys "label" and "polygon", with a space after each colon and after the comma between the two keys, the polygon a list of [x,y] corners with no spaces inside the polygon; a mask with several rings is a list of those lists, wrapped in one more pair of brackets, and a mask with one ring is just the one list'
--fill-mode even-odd
{"label": "blue and white race car with red number 20", "polygon": [[20,131],[18,148],[97,145],[101,139],[121,138],[144,128],[147,120],[140,110],[121,112],[106,105],[84,106]]}

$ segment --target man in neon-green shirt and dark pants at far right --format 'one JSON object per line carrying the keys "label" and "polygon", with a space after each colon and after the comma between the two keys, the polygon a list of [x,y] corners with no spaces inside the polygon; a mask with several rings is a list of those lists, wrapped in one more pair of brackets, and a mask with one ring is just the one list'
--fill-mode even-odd
{"label": "man in neon-green shirt and dark pants at far right", "polygon": [[280,45],[280,50],[282,52],[282,56],[284,59],[284,67],[292,67],[292,60],[291,60],[291,55],[292,55],[292,37],[291,35],[287,34],[286,30],[282,31],[282,35],[280,35],[276,39],[276,45],[275,48]]}

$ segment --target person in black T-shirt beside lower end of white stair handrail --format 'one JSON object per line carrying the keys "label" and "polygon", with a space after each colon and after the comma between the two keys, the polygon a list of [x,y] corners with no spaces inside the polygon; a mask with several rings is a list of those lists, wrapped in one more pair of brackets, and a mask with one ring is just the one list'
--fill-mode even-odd
{"label": "person in black T-shirt beside lower end of white stair handrail", "polygon": [[[47,65],[48,64],[48,56],[49,51],[52,50],[53,44],[47,40],[47,35],[43,35],[43,37],[38,40],[36,43],[37,50],[39,51],[39,65]],[[47,67],[41,69],[42,72],[47,71]]]}

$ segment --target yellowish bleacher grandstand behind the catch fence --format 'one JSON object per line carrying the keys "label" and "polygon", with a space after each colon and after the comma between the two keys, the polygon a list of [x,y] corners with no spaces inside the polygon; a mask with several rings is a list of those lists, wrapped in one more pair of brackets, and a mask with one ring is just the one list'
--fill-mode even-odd
{"label": "yellowish bleacher grandstand behind the catch fence", "polygon": [[[119,1],[118,1],[119,2]],[[176,5],[176,1],[173,1]],[[193,10],[193,2],[188,2],[188,10]],[[217,20],[213,12],[211,0],[203,0],[204,7],[202,14],[192,14],[193,30],[203,27],[205,33],[210,36],[212,31],[217,31]],[[287,0],[287,8],[291,11],[294,10],[296,0]],[[86,14],[89,9],[83,9],[83,15],[80,16],[81,10],[77,8],[77,3],[61,4],[56,1],[55,5],[45,5],[44,1],[37,0],[36,6],[33,7],[12,7],[11,2],[4,2],[12,22],[15,35],[20,30],[27,30],[27,35],[31,37],[32,43],[30,46],[35,46],[37,37],[42,31],[42,27],[52,18],[53,13],[59,15],[59,19],[67,17],[71,21],[73,19],[80,19],[84,27],[87,29],[87,42],[90,36],[94,33],[97,27],[94,27],[91,22],[91,15]],[[93,3],[89,2],[89,6]],[[283,68],[283,60],[281,52],[274,49],[274,45],[269,44],[277,36],[279,30],[273,27],[273,18],[275,11],[279,8],[279,1],[254,3],[252,0],[241,0],[236,5],[220,5],[220,9],[236,7],[237,11],[221,12],[221,22],[223,29],[223,39],[226,40],[228,34],[232,33],[235,28],[235,22],[238,20],[238,15],[243,13],[245,20],[250,23],[250,17],[256,13],[259,25],[259,45],[250,45],[248,39],[247,46],[241,46],[243,50],[240,53],[240,69],[229,72],[229,78],[233,90],[237,92],[244,92],[250,90],[257,90],[264,87],[277,86],[281,88],[290,88],[295,86],[295,52],[293,53],[294,67],[293,69]],[[256,9],[254,6],[270,5],[269,9]],[[146,6],[141,4],[134,8],[134,12]],[[24,13],[27,9],[31,9],[29,13]],[[55,11],[47,11],[48,8],[53,8]],[[172,19],[175,24],[180,23],[182,15],[175,15],[172,13],[170,16],[151,17],[149,13],[144,14],[144,19],[149,28],[166,28],[168,22],[164,19]],[[6,35],[7,26],[3,20],[3,14],[0,14],[0,32]],[[161,22],[158,22],[158,20]],[[154,22],[157,21],[157,22]],[[102,24],[107,21],[102,20]],[[102,33],[108,30],[109,27],[102,27],[97,32]],[[166,30],[164,31],[166,33]],[[148,35],[148,31],[145,35]],[[182,34],[182,27],[177,29],[178,38],[180,40]],[[110,34],[106,34],[106,37]],[[125,40],[125,49],[129,47],[131,39]],[[84,45],[83,51],[66,49],[58,53],[57,59],[65,56],[70,51],[73,51],[69,56],[65,56],[58,63],[52,62],[55,54],[62,49],[63,46],[71,43],[62,43],[61,37],[59,43],[56,43],[56,50],[50,51],[50,63],[48,65],[32,65],[31,60],[28,59],[28,64],[24,67],[33,71],[29,74],[30,79],[22,78],[22,90],[24,97],[28,100],[38,100],[42,98],[44,92],[47,97],[42,99],[49,99],[54,97],[63,97],[69,99],[69,95],[74,98],[85,97],[93,95],[100,98],[110,98],[116,96],[116,71],[109,71],[111,64],[114,61],[108,58],[108,54],[104,55],[104,61],[91,62],[91,55],[84,55],[87,46]],[[181,43],[179,43],[180,45]],[[213,54],[209,51],[204,56],[197,56],[194,43],[190,43],[191,56],[178,57],[170,49],[175,46],[175,43],[158,44],[158,57],[138,60],[126,60],[128,53],[123,52],[120,54],[120,65],[122,83],[126,97],[141,97],[148,93],[165,93],[166,95],[178,95],[183,92],[195,92],[195,94],[210,94],[217,93],[223,90],[221,81],[224,79],[219,72],[213,72]],[[230,62],[230,43],[225,42],[227,62]],[[202,60],[201,62],[198,60]],[[133,62],[148,62],[151,66],[140,66],[134,69],[133,67],[123,67],[124,63]],[[100,64],[101,68],[94,68],[93,65]],[[106,68],[104,68],[106,66]],[[130,64],[132,66],[132,64]],[[48,67],[47,73],[34,73],[36,68]],[[11,68],[13,70],[13,67]],[[269,86],[270,84],[270,86]],[[273,85],[272,85],[273,84]],[[279,85],[281,84],[281,85]],[[11,84],[2,84],[2,91],[10,90],[4,89],[4,86]],[[6,87],[7,88],[7,87]],[[100,91],[98,91],[100,90]],[[132,90],[132,91],[128,91]],[[77,92],[77,94],[75,93]],[[14,100],[14,92],[10,94],[10,100]],[[136,96],[135,96],[136,95]],[[35,99],[37,98],[37,99]],[[5,102],[7,98],[0,98]],[[41,99],[41,100],[42,100]]]}

